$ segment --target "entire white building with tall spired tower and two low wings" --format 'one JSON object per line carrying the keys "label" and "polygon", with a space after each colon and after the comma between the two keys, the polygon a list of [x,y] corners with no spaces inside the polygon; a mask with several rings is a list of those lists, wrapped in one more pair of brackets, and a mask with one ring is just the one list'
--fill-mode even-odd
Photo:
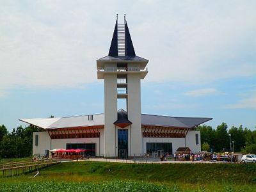
{"label": "entire white building with tall spired tower and two low wings", "polygon": [[[20,119],[42,128],[33,134],[33,154],[53,148],[84,148],[91,156],[129,157],[157,150],[173,154],[179,147],[201,150],[195,128],[212,118],[141,114],[141,79],[148,60],[136,56],[124,17],[116,19],[108,56],[97,60],[97,77],[104,79],[104,114],[63,118]],[[118,99],[126,102],[119,109]]]}

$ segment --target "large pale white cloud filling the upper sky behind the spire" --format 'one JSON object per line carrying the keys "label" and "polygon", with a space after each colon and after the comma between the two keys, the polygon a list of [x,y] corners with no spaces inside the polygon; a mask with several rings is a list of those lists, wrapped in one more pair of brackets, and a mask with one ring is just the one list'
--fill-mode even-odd
{"label": "large pale white cloud filling the upper sky behind the spire", "polygon": [[145,81],[256,74],[254,1],[22,2],[0,6],[1,90],[97,81],[96,60],[108,54],[116,12],[127,13],[135,51],[150,60]]}

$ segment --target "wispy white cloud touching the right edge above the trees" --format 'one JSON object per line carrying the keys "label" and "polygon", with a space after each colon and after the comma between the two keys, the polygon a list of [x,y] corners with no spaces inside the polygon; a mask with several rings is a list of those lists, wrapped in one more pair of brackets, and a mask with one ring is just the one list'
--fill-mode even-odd
{"label": "wispy white cloud touching the right edge above the trees", "polygon": [[256,109],[256,93],[247,97],[245,99],[239,100],[236,104],[227,104],[225,106],[227,109],[246,109],[252,108]]}

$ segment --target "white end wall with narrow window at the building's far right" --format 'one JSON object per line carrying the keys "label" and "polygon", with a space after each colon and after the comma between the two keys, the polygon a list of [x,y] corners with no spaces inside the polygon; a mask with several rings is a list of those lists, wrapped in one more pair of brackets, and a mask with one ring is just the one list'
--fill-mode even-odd
{"label": "white end wall with narrow window at the building's far right", "polygon": [[[198,145],[196,145],[196,134],[198,134]],[[186,147],[189,147],[193,153],[201,151],[200,131],[188,131],[186,136]]]}

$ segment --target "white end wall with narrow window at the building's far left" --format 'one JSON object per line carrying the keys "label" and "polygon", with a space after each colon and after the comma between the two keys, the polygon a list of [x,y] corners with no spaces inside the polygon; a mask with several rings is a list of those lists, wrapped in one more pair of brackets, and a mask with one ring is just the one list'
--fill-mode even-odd
{"label": "white end wall with narrow window at the building's far left", "polygon": [[[36,135],[38,135],[38,146],[35,145]],[[33,155],[45,154],[45,150],[51,150],[51,138],[48,132],[33,132]]]}

